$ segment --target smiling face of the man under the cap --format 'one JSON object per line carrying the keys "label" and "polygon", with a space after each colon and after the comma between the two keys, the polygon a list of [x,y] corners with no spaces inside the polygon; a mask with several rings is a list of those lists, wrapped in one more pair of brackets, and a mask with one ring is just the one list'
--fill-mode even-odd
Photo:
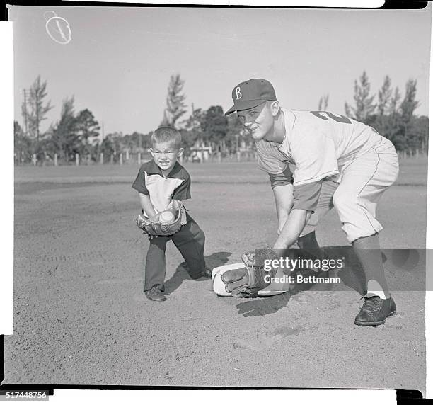
{"label": "smiling face of the man under the cap", "polygon": [[238,111],[238,117],[255,141],[266,139],[267,135],[272,135],[274,116],[270,102],[265,101],[249,110]]}

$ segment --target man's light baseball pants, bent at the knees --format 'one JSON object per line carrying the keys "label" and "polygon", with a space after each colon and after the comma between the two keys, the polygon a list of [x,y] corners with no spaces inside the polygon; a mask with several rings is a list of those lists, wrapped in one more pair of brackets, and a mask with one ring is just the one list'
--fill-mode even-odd
{"label": "man's light baseball pants, bent at the knees", "polygon": [[379,233],[383,227],[376,219],[376,207],[384,191],[398,176],[398,156],[388,139],[342,167],[340,178],[322,183],[316,211],[302,236],[313,232],[321,218],[335,207],[347,240]]}

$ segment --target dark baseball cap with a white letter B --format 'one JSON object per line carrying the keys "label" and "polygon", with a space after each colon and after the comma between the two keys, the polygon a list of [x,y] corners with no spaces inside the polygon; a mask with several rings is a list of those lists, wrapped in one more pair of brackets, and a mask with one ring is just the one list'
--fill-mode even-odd
{"label": "dark baseball cap with a white letter B", "polygon": [[224,115],[257,107],[264,101],[277,100],[274,87],[265,79],[249,79],[239,83],[231,92],[231,98],[234,105]]}

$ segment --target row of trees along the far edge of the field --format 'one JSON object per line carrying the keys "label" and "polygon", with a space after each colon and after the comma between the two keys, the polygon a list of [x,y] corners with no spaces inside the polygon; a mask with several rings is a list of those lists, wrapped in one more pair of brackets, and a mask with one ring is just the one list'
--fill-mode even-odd
{"label": "row of trees along the far edge of the field", "polygon": [[[190,149],[211,147],[214,152],[229,154],[241,147],[254,149],[254,142],[243,129],[236,114],[224,115],[219,105],[211,105],[207,110],[187,107],[184,93],[185,81],[180,74],[173,74],[167,88],[166,108],[163,110],[161,125],[169,125],[180,130],[183,135],[185,155]],[[398,87],[393,88],[389,76],[385,76],[377,93],[371,93],[371,84],[366,72],[354,81],[352,105],[345,103],[345,113],[374,127],[381,135],[393,142],[398,151],[415,154],[427,153],[427,116],[415,115],[420,104],[416,99],[417,81],[409,79],[402,96]],[[47,81],[37,76],[29,90],[23,91],[21,113],[23,127],[14,122],[14,146],[16,161],[30,162],[35,154],[38,161],[53,159],[57,154],[64,162],[74,161],[75,154],[86,156],[88,163],[99,161],[100,153],[105,158],[118,156],[120,152],[146,152],[150,145],[151,132],[133,132],[124,135],[114,132],[100,141],[100,125],[87,108],[75,112],[74,97],[62,102],[62,111],[57,122],[42,132],[41,124],[52,109],[47,101]],[[322,96],[318,109],[328,108],[329,94]],[[190,114],[187,112],[190,110]]]}

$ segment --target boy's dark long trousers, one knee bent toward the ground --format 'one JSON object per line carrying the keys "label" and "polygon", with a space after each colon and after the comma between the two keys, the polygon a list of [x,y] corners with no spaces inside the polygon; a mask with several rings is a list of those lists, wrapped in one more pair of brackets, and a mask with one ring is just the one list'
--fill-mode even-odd
{"label": "boy's dark long trousers, one knee bent toward the ground", "polygon": [[144,291],[158,285],[164,290],[166,278],[166,246],[172,240],[187,263],[191,278],[199,278],[204,271],[204,232],[187,213],[187,223],[171,236],[158,236],[150,240],[146,256],[146,266],[143,268]]}

